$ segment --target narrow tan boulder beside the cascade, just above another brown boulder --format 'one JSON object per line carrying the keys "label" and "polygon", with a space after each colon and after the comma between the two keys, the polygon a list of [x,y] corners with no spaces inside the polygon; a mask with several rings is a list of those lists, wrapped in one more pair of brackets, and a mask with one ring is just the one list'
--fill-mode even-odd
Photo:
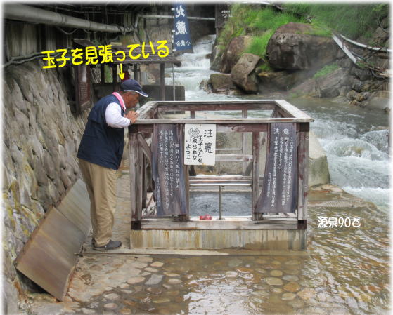
{"label": "narrow tan boulder beside the cascade, just above another brown boulder", "polygon": [[238,36],[233,38],[224,52],[219,72],[230,73],[251,41],[252,36]]}

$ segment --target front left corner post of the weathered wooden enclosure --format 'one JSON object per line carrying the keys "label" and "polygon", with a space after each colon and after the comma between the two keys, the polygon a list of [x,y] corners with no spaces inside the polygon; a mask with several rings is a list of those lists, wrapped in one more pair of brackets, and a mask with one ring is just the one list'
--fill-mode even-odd
{"label": "front left corner post of the weathered wooden enclosure", "polygon": [[131,197],[131,229],[141,229],[141,213],[138,211],[140,184],[138,167],[138,133],[129,132],[129,180]]}

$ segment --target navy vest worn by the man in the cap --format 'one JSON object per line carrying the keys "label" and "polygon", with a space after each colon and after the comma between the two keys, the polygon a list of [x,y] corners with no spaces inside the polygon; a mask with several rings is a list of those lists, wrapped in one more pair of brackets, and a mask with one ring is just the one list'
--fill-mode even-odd
{"label": "navy vest worn by the man in the cap", "polygon": [[[91,108],[77,157],[117,170],[123,155],[124,128],[112,128],[106,123],[105,110],[112,102],[120,106],[115,95],[108,95],[98,100]],[[122,116],[124,116],[123,109]]]}

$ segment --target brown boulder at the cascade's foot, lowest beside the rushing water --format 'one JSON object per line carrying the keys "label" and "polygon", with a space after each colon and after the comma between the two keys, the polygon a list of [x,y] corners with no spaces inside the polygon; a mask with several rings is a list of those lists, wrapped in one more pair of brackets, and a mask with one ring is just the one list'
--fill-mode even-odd
{"label": "brown boulder at the cascade's foot, lowest beside the rushing water", "polygon": [[231,79],[245,93],[258,92],[258,78],[255,74],[255,66],[261,58],[252,53],[245,53],[231,71]]}

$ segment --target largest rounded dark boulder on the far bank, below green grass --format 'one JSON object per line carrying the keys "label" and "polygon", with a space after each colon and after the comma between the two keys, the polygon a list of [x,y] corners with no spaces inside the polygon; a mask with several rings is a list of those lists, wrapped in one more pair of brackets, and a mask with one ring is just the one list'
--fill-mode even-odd
{"label": "largest rounded dark boulder on the far bank, below green grass", "polygon": [[276,69],[313,69],[333,62],[337,45],[330,37],[310,35],[314,27],[288,23],[271,36],[266,48],[269,64]]}

